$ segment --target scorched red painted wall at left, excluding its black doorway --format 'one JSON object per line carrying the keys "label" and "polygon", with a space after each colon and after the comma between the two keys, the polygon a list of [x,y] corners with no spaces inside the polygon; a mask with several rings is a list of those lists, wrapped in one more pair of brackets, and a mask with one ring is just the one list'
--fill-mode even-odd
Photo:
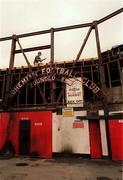
{"label": "scorched red painted wall at left, excluding its black doorway", "polygon": [[9,140],[15,148],[16,155],[19,155],[19,121],[30,120],[30,154],[37,152],[40,157],[52,157],[52,112],[14,112],[10,115],[2,113],[0,118],[0,149],[5,143],[7,124],[10,118]]}

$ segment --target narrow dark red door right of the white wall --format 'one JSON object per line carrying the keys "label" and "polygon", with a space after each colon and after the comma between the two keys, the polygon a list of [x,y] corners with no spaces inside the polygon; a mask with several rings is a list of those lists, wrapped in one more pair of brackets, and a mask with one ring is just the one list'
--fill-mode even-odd
{"label": "narrow dark red door right of the white wall", "polygon": [[89,120],[91,158],[101,159],[101,135],[99,120]]}

